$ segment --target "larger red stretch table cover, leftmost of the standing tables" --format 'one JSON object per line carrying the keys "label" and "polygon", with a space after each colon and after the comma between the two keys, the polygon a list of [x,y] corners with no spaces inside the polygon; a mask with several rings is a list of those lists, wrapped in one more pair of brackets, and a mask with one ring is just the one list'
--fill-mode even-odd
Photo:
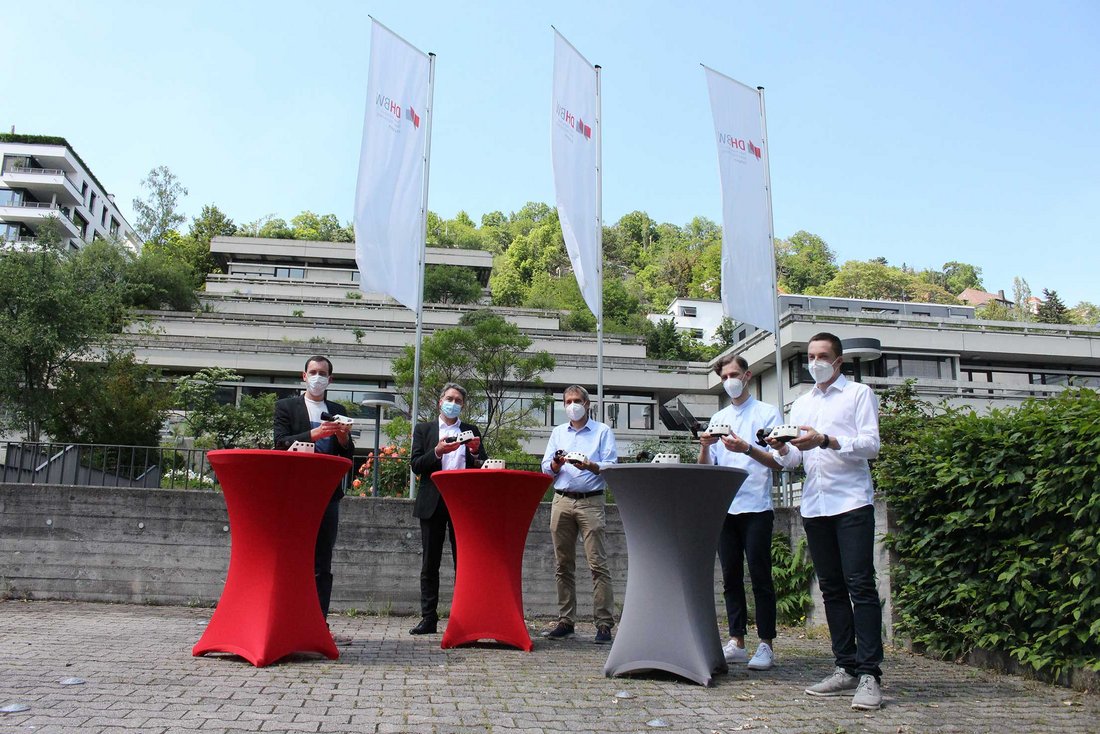
{"label": "larger red stretch table cover, leftmost of the standing tables", "polygon": [[323,453],[210,451],[229,511],[226,588],[191,650],[263,667],[292,653],[339,657],[314,580],[317,532],[351,461]]}

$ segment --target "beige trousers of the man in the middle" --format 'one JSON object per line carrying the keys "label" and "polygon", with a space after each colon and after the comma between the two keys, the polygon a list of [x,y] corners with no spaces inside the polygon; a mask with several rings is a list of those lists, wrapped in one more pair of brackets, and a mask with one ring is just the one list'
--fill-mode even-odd
{"label": "beige trousers of the man in the middle", "polygon": [[576,624],[576,536],[584,544],[584,555],[592,571],[592,621],[598,625],[615,625],[615,594],[607,569],[604,548],[604,495],[583,500],[554,493],[550,508],[550,537],[557,559],[554,579],[558,582],[558,617]]}

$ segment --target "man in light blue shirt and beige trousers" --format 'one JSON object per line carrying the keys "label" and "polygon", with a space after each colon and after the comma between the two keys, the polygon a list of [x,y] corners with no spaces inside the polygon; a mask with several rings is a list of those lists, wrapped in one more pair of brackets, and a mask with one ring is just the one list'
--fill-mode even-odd
{"label": "man in light blue shirt and beige trousers", "polygon": [[[612,642],[615,626],[612,574],[604,548],[604,487],[600,471],[618,461],[615,435],[606,425],[588,417],[588,391],[571,385],[562,394],[569,423],[556,426],[542,456],[542,471],[554,478],[550,510],[550,536],[553,538],[554,579],[558,582],[558,624],[546,633],[550,639],[573,635],[576,624],[576,536],[584,543],[584,556],[592,571],[593,622],[595,642]],[[585,459],[566,460],[570,453]]]}

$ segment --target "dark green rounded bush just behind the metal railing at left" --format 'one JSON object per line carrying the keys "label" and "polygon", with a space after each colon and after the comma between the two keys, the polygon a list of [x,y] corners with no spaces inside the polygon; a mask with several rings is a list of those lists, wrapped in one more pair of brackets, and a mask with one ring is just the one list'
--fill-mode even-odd
{"label": "dark green rounded bush just behind the metal railing at left", "polygon": [[132,351],[108,350],[58,370],[44,427],[56,441],[156,446],[168,407],[157,370]]}

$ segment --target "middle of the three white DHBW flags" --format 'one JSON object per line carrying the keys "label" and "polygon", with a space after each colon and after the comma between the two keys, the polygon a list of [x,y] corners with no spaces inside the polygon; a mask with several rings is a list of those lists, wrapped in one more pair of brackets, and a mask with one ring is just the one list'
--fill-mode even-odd
{"label": "middle of the three white DHBW flags", "polygon": [[558,31],[550,109],[554,200],[576,284],[598,319],[603,309],[596,186],[596,69]]}

